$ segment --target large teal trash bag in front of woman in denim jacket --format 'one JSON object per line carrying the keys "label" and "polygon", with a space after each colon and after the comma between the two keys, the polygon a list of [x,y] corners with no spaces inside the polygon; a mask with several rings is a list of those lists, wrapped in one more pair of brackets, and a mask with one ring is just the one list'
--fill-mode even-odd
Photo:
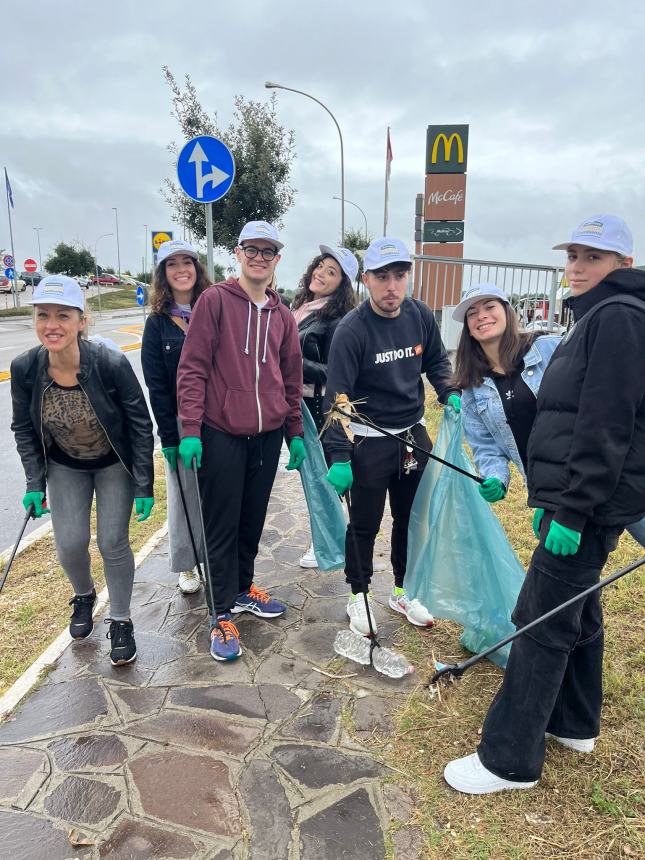
{"label": "large teal trash bag in front of woman in denim jacket", "polygon": [[[461,415],[447,411],[433,453],[474,472],[463,447]],[[404,586],[438,618],[463,624],[460,642],[478,654],[515,631],[511,613],[524,568],[475,481],[430,460],[408,528]],[[510,645],[491,654],[505,667]]]}

